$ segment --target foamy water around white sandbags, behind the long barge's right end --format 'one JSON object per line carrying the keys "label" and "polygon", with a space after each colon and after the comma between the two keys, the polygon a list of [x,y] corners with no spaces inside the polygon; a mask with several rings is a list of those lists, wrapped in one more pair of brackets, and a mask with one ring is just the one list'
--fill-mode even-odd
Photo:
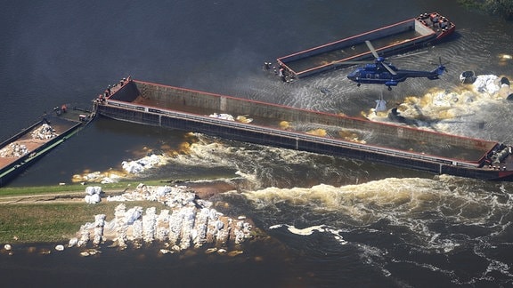
{"label": "foamy water around white sandbags, behind the long barge's right end", "polygon": [[[476,127],[501,121],[511,93],[513,89],[501,84],[500,76],[479,75],[474,84],[461,84],[452,90],[433,88],[424,94],[408,96],[396,108],[400,116],[421,129],[488,139],[492,137],[488,135],[490,129],[484,131]],[[388,113],[388,110],[379,112],[371,108],[363,116],[373,121],[392,122]]]}

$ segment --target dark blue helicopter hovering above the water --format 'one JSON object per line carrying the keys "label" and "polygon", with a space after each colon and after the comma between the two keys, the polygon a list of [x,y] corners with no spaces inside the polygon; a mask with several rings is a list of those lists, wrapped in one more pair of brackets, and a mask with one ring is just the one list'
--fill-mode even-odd
{"label": "dark blue helicopter hovering above the water", "polygon": [[378,52],[374,49],[370,41],[365,41],[365,44],[369,47],[374,56],[374,62],[362,62],[362,61],[347,61],[345,64],[362,64],[367,63],[365,66],[356,68],[353,72],[347,75],[349,80],[357,83],[358,86],[361,84],[385,84],[388,90],[392,90],[391,86],[396,86],[399,82],[403,82],[407,78],[419,78],[425,77],[430,80],[438,79],[438,76],[444,74],[447,71],[442,59],[440,58],[440,64],[433,71],[416,71],[416,70],[403,70],[396,68],[394,65],[386,63],[385,58],[379,57]]}

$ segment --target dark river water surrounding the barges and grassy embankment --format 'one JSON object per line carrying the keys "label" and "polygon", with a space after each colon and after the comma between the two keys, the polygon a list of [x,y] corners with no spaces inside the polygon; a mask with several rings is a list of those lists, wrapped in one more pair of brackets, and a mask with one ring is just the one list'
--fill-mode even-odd
{"label": "dark river water surrounding the barges and grassy embankment", "polygon": [[[262,64],[422,12],[440,12],[458,33],[395,61],[440,80],[356,85],[351,68],[283,84]],[[431,89],[458,91],[462,71],[513,76],[513,23],[455,1],[13,1],[0,10],[0,137],[61,103],[88,106],[124,76],[160,84],[358,116]],[[513,143],[513,104],[493,100],[445,132]],[[119,169],[147,149],[177,149],[184,132],[97,119],[12,186],[69,183],[74,174]],[[0,254],[0,284],[176,287],[507,287],[513,285],[513,185],[412,172],[201,137],[190,155],[147,177],[244,178],[242,193],[216,196],[270,238],[236,257],[159,247],[82,258],[54,244]],[[216,146],[211,145],[216,142]],[[1,193],[1,189],[0,189]],[[92,215],[93,217],[93,215]],[[109,216],[108,216],[109,217]],[[78,230],[78,228],[77,228]]]}

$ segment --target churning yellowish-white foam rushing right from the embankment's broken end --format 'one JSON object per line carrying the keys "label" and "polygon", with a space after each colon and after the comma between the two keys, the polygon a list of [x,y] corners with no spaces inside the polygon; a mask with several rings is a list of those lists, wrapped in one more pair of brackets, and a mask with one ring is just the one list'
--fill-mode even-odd
{"label": "churning yellowish-white foam rushing right from the embankment's broken end", "polygon": [[[509,183],[501,183],[490,190],[480,180],[442,175],[433,180],[389,178],[343,187],[322,184],[312,188],[264,188],[244,192],[244,196],[261,211],[286,209],[323,215],[325,224],[321,225],[308,226],[305,220],[308,217],[294,215],[291,219],[300,219],[305,228],[283,223],[270,228],[287,228],[289,233],[305,237],[314,233],[338,235],[341,244],[357,247],[362,252],[362,261],[379,267],[384,276],[393,275],[393,270],[387,268],[387,263],[392,261],[442,273],[454,283],[468,284],[459,274],[436,262],[417,260],[408,256],[407,251],[413,255],[442,255],[450,261],[460,250],[468,251],[468,246],[473,246],[471,251],[477,259],[489,263],[482,271],[483,276],[495,271],[510,277],[508,264],[490,254],[483,244],[500,241],[504,245],[501,238],[508,233],[511,226],[508,215],[513,212],[513,196],[506,192],[511,188]],[[383,225],[386,228],[381,228]],[[340,234],[358,231],[372,235],[377,232],[373,228],[376,226],[380,227],[379,233],[390,229],[399,238],[397,244],[403,247],[400,251],[407,255],[395,255],[378,244],[348,241],[347,236]]]}

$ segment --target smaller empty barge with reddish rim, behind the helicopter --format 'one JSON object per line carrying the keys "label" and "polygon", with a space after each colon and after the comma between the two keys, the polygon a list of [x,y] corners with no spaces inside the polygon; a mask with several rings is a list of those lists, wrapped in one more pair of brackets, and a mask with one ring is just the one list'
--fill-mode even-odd
{"label": "smaller empty barge with reddish rim, behind the helicopter", "polygon": [[417,18],[351,36],[329,44],[278,58],[278,66],[290,77],[301,78],[333,68],[343,68],[347,61],[373,60],[365,41],[371,41],[379,56],[418,49],[439,42],[454,32],[456,26],[433,12]]}

